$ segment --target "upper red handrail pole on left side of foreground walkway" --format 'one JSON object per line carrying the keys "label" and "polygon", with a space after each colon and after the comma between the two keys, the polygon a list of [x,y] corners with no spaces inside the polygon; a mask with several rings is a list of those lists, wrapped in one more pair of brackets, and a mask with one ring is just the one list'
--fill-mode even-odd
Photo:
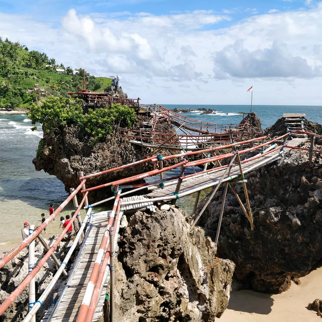
{"label": "upper red handrail pole on left side of foreground walkway", "polygon": [[14,247],[11,251],[7,252],[0,260],[0,268],[2,268],[9,260],[12,260],[20,251],[22,251],[30,242],[32,242],[46,226],[51,223],[55,217],[65,208],[71,199],[80,191],[81,187],[85,184],[86,179],[82,179],[80,185],[60,204],[60,206],[38,227],[35,228],[33,233],[25,238],[21,243]]}

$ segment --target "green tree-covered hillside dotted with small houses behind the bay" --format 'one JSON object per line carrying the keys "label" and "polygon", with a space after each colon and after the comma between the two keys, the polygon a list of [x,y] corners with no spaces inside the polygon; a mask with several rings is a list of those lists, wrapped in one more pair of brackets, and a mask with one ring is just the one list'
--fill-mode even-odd
{"label": "green tree-covered hillside dotted with small houses behind the bay", "polygon": [[[0,108],[29,107],[48,95],[67,97],[67,92],[83,88],[82,68],[75,70],[80,72],[73,74],[71,66],[65,68],[46,53],[29,51],[25,45],[0,37]],[[85,81],[86,89],[96,92],[112,83],[87,72]]]}

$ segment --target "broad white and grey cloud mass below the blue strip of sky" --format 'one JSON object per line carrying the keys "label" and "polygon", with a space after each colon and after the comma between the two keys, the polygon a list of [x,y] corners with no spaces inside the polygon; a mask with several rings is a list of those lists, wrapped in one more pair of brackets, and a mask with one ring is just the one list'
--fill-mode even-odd
{"label": "broad white and grey cloud mass below the blue strip of sky", "polygon": [[[97,76],[118,74],[129,97],[140,96],[144,102],[242,104],[244,87],[253,79],[256,88],[263,88],[257,103],[276,104],[266,94],[274,79],[274,86],[279,82],[285,89],[287,104],[300,104],[294,86],[300,84],[302,96],[306,87],[317,88],[322,5],[283,13],[272,9],[238,23],[228,14],[198,10],[80,15],[70,10],[55,26],[31,16],[0,13],[0,30],[1,36],[46,52],[65,66],[85,67]],[[221,22],[231,26],[218,29]],[[226,101],[232,91],[235,101]],[[317,93],[309,99],[319,102]]]}

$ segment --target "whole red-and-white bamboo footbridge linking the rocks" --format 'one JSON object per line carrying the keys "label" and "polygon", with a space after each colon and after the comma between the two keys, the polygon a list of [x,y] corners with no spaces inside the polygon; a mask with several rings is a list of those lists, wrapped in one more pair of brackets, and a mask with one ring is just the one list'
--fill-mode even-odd
{"label": "whole red-and-white bamboo footbridge linking the rocks", "polygon": [[[151,156],[145,159],[94,174],[83,175],[81,173],[80,185],[76,189],[71,189],[71,194],[68,198],[44,223],[31,230],[29,237],[6,253],[0,260],[0,268],[2,268],[27,245],[29,245],[29,253],[32,255],[35,239],[69,202],[73,202],[76,211],[71,218],[71,222],[54,244],[50,248],[48,247],[45,255],[38,263],[34,263],[32,257],[29,257],[31,268],[29,274],[10,296],[3,301],[0,306],[0,314],[3,314],[10,307],[28,285],[29,290],[33,289],[35,275],[46,260],[53,256],[54,250],[73,223],[77,232],[75,240],[63,261],[60,264],[58,263],[57,272],[40,298],[36,300],[30,294],[29,312],[24,321],[35,321],[36,312],[42,306],[44,300],[52,295],[54,286],[61,275],[64,274],[67,263],[78,247],[79,251],[68,272],[68,277],[58,291],[58,298],[55,300],[54,305],[46,311],[41,321],[102,321],[103,313],[110,317],[110,321],[114,321],[115,254],[118,251],[118,232],[123,213],[138,209],[145,209],[147,212],[155,213],[157,203],[175,204],[179,198],[194,194],[195,204],[191,214],[191,227],[193,227],[201,218],[219,187],[222,186],[222,205],[215,239],[217,243],[228,189],[231,189],[236,196],[245,217],[249,221],[251,230],[254,230],[256,227],[253,223],[245,175],[260,167],[269,165],[292,149],[308,151],[309,163],[312,162],[313,153],[322,152],[314,149],[314,138],[322,136],[305,131],[303,115],[284,115],[287,133],[270,140],[261,132],[242,131],[242,127],[238,125],[225,126],[197,120],[192,121],[192,119],[177,116],[176,113],[162,107],[150,106],[150,108],[152,107],[154,109],[153,121],[151,124],[147,124],[148,127],[140,130],[141,132],[133,132],[138,134],[134,136],[142,138],[143,132],[148,132],[149,139],[156,139],[159,133],[154,133],[154,126],[155,122],[160,118],[166,118],[178,128],[185,128],[197,134],[184,134],[181,137],[178,137],[177,134],[170,134],[164,140],[158,141],[156,139],[154,143],[156,147],[150,146]],[[153,135],[156,136],[153,137]],[[171,141],[174,138],[175,141]],[[184,140],[186,142],[185,146],[183,144]],[[306,141],[310,142],[309,148],[303,147]],[[158,147],[166,146],[166,144],[169,146],[179,144],[179,153],[168,156],[154,154]],[[190,160],[189,157],[193,157],[193,160]],[[171,160],[171,163],[168,162],[169,164],[167,164],[167,160]],[[85,186],[86,181],[92,177],[104,176],[104,174],[135,167],[143,163],[155,164],[155,170],[103,185],[88,188]],[[198,171],[196,171],[196,166],[198,166]],[[189,173],[187,173],[188,168],[190,169]],[[146,182],[136,183],[142,179],[145,179]],[[237,184],[241,184],[244,187],[246,205],[244,205],[234,188]],[[114,191],[113,197],[91,205],[88,204],[88,194],[91,191],[106,187],[112,188],[112,191]],[[200,192],[207,188],[213,188],[213,190],[203,208],[197,212]],[[78,204],[76,197],[79,192],[83,195],[80,204]],[[114,200],[112,210],[105,212],[93,211],[93,207],[112,200]],[[82,218],[81,209],[86,211]]]}

